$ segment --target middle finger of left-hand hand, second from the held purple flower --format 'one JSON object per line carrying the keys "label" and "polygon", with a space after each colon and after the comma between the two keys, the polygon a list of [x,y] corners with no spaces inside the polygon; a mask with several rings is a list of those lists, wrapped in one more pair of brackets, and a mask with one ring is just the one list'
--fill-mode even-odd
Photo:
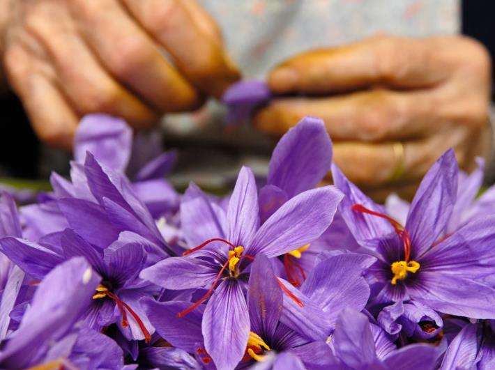
{"label": "middle finger of left-hand hand, second from the held purple flower", "polygon": [[79,31],[100,63],[159,111],[199,107],[196,89],[115,0],[70,1]]}

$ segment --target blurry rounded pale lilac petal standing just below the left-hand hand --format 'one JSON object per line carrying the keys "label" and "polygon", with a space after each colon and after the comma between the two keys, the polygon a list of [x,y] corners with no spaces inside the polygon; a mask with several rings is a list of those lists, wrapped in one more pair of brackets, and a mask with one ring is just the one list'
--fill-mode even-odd
{"label": "blurry rounded pale lilac petal standing just below the left-hand hand", "polygon": [[74,158],[84,163],[86,152],[98,162],[124,171],[129,162],[132,130],[121,118],[106,114],[88,114],[77,126],[74,138]]}

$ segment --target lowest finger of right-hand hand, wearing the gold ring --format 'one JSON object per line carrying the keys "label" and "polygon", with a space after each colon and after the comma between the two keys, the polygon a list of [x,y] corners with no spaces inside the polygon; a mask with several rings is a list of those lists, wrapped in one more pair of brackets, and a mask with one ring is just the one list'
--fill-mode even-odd
{"label": "lowest finger of right-hand hand, wearing the gold ring", "polygon": [[[334,141],[333,160],[349,180],[367,187],[411,183],[420,180],[448,148],[455,149],[460,164],[471,160],[466,157],[470,139],[469,129],[458,127],[427,139],[403,141],[403,155],[398,155],[394,148],[397,141],[382,144]],[[397,172],[400,178],[393,181]]]}

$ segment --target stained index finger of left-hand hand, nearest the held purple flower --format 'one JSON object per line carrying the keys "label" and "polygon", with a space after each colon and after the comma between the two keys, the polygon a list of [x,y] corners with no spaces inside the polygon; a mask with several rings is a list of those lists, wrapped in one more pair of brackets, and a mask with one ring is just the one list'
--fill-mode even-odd
{"label": "stained index finger of left-hand hand, nearest the held purple flower", "polygon": [[[144,28],[172,56],[178,70],[208,95],[220,98],[240,75],[218,40],[211,38],[179,0],[123,0]],[[195,13],[197,15],[197,13]]]}

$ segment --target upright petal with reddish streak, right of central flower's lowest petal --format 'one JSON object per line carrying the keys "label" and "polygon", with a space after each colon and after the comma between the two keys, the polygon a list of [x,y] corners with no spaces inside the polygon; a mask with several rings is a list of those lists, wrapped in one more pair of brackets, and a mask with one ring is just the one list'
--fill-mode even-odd
{"label": "upright petal with reddish streak, right of central flower's lowest petal", "polygon": [[251,265],[248,307],[251,331],[261,338],[271,338],[282,312],[282,290],[273,274],[270,261],[258,255]]}

